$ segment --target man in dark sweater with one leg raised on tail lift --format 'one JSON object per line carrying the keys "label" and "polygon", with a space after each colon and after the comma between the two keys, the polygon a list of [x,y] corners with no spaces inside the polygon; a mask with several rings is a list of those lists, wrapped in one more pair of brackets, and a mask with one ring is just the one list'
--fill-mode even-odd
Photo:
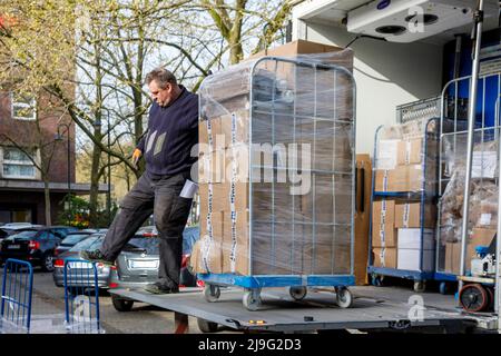
{"label": "man in dark sweater with one leg raised on tail lift", "polygon": [[154,103],[148,131],[139,141],[132,160],[146,160],[146,171],[124,198],[102,247],[82,251],[90,261],[112,264],[143,222],[154,214],[159,235],[160,266],[158,281],[146,286],[155,294],[177,293],[183,255],[183,230],[191,198],[179,194],[189,178],[191,148],[198,144],[198,96],[178,85],[166,69],[146,76]]}

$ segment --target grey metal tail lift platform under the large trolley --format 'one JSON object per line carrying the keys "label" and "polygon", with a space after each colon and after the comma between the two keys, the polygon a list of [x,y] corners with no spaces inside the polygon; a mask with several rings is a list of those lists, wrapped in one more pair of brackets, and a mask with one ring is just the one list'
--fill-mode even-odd
{"label": "grey metal tail lift platform under the large trolley", "polygon": [[[305,299],[297,301],[291,298],[285,288],[266,288],[262,291],[262,307],[256,312],[243,307],[243,290],[235,287],[222,288],[220,297],[215,303],[206,301],[199,288],[186,288],[173,295],[154,295],[129,289],[114,289],[110,294],[174,312],[178,333],[187,329],[188,316],[244,333],[342,329],[362,333],[463,333],[478,325],[475,318],[461,314],[450,305],[409,304],[406,295],[403,296],[404,303],[386,298],[380,290],[371,293],[371,287],[352,287],[355,296],[353,307],[343,309],[335,305],[333,290],[312,288]],[[386,293],[392,296],[395,290]],[[449,297],[453,299],[452,296]],[[418,296],[416,301],[419,300]]]}

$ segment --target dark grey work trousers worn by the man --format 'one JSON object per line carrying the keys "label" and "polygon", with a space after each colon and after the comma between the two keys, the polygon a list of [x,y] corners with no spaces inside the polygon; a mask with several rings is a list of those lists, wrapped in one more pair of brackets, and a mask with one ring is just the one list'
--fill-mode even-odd
{"label": "dark grey work trousers worn by the man", "polygon": [[188,177],[189,172],[164,177],[150,177],[145,172],[124,198],[106,234],[101,247],[106,259],[117,259],[122,248],[153,212],[159,237],[159,283],[177,287],[183,258],[183,230],[193,200],[183,198],[179,194]]}

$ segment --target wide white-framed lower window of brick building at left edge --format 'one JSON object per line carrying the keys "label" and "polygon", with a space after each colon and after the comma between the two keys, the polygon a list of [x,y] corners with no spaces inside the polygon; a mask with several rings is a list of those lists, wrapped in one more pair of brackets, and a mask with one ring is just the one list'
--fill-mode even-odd
{"label": "wide white-framed lower window of brick building at left edge", "polygon": [[37,169],[30,157],[36,156],[14,147],[3,147],[3,178],[35,179]]}

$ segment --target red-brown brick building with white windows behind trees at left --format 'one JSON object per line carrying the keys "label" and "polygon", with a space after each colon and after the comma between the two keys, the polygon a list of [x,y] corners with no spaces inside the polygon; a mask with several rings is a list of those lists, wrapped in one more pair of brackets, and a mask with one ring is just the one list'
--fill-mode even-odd
{"label": "red-brown brick building with white windows behind trees at left", "polygon": [[89,194],[89,184],[75,181],[75,125],[50,103],[51,98],[0,92],[0,222],[45,224],[45,182],[37,166],[47,171],[52,222],[68,194],[68,158],[71,192]]}

